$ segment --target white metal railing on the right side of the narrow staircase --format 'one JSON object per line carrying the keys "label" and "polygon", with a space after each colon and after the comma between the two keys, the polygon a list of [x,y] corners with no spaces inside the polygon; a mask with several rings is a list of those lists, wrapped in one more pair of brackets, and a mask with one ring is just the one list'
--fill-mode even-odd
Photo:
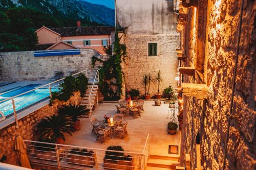
{"label": "white metal railing on the right side of the narrow staircase", "polygon": [[[89,108],[90,108],[90,111],[92,111],[92,108],[93,108],[93,105],[94,105],[94,100],[95,100],[95,96],[97,98],[97,107],[98,106],[98,83],[99,83],[99,70],[101,68],[99,68],[97,71],[96,71],[96,75],[94,77],[94,81],[93,81],[93,84],[92,84],[92,87],[91,87],[91,91],[90,91],[90,95],[89,95],[89,98],[88,98],[88,101],[89,101]],[[96,89],[96,90],[95,90]]]}

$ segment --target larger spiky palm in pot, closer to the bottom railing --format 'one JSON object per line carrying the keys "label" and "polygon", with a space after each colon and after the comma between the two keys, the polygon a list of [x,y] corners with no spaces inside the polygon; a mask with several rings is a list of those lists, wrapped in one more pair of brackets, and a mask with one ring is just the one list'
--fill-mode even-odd
{"label": "larger spiky palm in pot, closer to the bottom railing", "polygon": [[52,139],[53,142],[63,144],[65,141],[64,132],[70,134],[75,131],[74,123],[67,116],[47,116],[36,125],[36,134],[40,138]]}

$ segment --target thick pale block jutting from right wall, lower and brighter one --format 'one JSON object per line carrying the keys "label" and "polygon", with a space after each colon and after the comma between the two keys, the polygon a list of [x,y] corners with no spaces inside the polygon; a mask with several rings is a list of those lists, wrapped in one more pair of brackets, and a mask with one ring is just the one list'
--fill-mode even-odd
{"label": "thick pale block jutting from right wall, lower and brighter one", "polygon": [[182,83],[182,93],[197,99],[207,99],[208,86],[206,84]]}

